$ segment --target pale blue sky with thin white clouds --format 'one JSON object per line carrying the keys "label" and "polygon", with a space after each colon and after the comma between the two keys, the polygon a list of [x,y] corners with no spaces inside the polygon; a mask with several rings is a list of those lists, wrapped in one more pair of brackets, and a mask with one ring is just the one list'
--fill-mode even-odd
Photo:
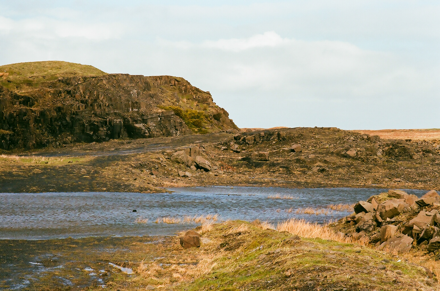
{"label": "pale blue sky with thin white clouds", "polygon": [[183,77],[241,128],[440,128],[438,0],[0,0],[0,47]]}

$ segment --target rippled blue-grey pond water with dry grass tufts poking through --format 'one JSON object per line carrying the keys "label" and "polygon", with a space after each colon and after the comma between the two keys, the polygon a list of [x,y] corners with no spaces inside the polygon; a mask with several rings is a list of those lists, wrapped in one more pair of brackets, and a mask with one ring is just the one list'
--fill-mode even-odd
{"label": "rippled blue-grey pond water with dry grass tufts poking through", "polygon": [[[347,212],[296,213],[298,208],[352,204],[386,190],[361,188],[286,189],[267,187],[170,188],[172,193],[1,193],[0,239],[49,239],[88,236],[169,235],[196,223],[155,223],[162,217],[218,214],[219,220],[289,218],[325,222]],[[421,196],[425,190],[407,190]],[[274,199],[269,196],[287,196]],[[136,209],[136,212],[132,212]],[[290,210],[289,210],[290,209]],[[142,216],[147,223],[136,223]]]}

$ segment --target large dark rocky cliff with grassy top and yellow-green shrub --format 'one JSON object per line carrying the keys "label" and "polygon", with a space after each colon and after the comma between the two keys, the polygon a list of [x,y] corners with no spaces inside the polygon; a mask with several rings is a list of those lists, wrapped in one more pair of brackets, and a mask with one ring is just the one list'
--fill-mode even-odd
{"label": "large dark rocky cliff with grassy top and yellow-green shrub", "polygon": [[107,74],[64,61],[0,66],[0,149],[238,129],[180,77]]}

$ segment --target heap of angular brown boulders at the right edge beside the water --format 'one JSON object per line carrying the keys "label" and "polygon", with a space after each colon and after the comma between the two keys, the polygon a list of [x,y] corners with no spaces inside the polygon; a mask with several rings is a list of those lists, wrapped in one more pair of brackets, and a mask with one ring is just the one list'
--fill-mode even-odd
{"label": "heap of angular brown boulders at the right edge beside the water", "polygon": [[412,247],[440,249],[440,196],[436,191],[418,198],[389,190],[359,201],[351,215],[334,224],[339,235],[364,240],[378,249],[409,251]]}

